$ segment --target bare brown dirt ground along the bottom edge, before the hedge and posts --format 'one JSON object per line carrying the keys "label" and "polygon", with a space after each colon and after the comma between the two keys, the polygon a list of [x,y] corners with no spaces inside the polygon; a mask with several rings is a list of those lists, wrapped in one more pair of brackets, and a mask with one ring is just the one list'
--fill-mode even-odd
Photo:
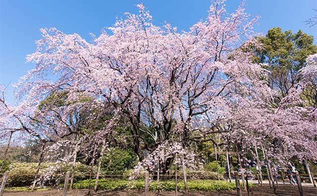
{"label": "bare brown dirt ground along the bottom edge, before the hedge and posts", "polygon": [[[303,187],[304,196],[317,196],[317,189],[314,187]],[[87,190],[69,190],[67,196],[86,196]],[[62,196],[62,190],[51,191],[34,191],[34,192],[13,192],[6,191],[3,196]],[[129,190],[129,191],[99,191],[92,196],[144,196],[143,191]],[[183,196],[183,193],[178,193],[178,196]],[[243,192],[243,196],[247,194]],[[151,192],[150,196],[175,196],[174,192]],[[189,192],[187,196],[236,196],[236,191],[232,192]],[[250,196],[299,196],[297,186],[279,185],[277,193],[274,194],[273,189],[268,185],[253,188],[250,190]]]}

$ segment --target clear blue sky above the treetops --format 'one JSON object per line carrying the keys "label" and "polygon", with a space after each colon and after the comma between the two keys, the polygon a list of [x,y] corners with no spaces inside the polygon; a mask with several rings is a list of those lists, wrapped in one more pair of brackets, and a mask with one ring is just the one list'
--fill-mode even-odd
{"label": "clear blue sky above the treetops", "polygon": [[[316,0],[245,0],[247,12],[259,15],[256,32],[272,27],[283,31],[303,30],[316,37],[317,25],[309,28],[304,21],[313,17]],[[25,55],[36,49],[41,38],[40,28],[55,27],[64,33],[77,33],[90,40],[90,33],[99,35],[103,27],[111,26],[116,16],[137,11],[135,4],[143,2],[153,15],[156,25],[164,21],[188,30],[198,20],[206,18],[210,0],[0,0],[0,84],[16,83],[32,63]],[[228,0],[227,10],[233,11],[240,0]]]}

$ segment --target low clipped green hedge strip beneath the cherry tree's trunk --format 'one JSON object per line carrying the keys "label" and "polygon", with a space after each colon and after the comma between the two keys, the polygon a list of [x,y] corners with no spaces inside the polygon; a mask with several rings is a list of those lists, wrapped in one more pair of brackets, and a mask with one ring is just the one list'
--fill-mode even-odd
{"label": "low clipped green hedge strip beneath the cherry tree's trunk", "polygon": [[[88,180],[83,180],[76,182],[73,186],[73,189],[88,189]],[[94,186],[95,180],[91,182],[91,188]],[[231,191],[236,189],[236,185],[234,183],[229,183],[226,181],[214,181],[214,180],[189,180],[187,182],[189,191]],[[250,187],[255,187],[254,184],[249,183]],[[177,183],[177,187],[179,191],[184,190],[184,182],[179,181]],[[106,180],[101,179],[98,182],[99,190],[131,190],[138,189],[144,190],[144,180]],[[175,190],[175,182],[174,181],[161,181],[159,182],[159,186],[157,182],[150,182],[149,190],[150,191],[174,191]]]}

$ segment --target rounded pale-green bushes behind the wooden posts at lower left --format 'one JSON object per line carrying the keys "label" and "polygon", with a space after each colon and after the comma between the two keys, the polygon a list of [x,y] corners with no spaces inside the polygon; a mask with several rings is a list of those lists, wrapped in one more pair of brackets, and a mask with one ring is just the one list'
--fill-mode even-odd
{"label": "rounded pale-green bushes behind the wooden posts at lower left", "polygon": [[[29,186],[34,181],[38,163],[12,163],[8,166],[9,177],[8,187]],[[40,167],[39,179],[44,185],[55,185],[64,181],[66,171],[71,171],[71,164],[64,163],[42,163]],[[53,175],[50,175],[53,174]],[[87,179],[90,174],[90,167],[76,163],[74,181]]]}

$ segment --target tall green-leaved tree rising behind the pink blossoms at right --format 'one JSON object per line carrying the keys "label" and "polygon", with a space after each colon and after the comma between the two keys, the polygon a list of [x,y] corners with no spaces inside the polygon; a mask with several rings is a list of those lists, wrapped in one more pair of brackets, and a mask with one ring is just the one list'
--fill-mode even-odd
{"label": "tall green-leaved tree rising behind the pink blossoms at right", "polygon": [[271,28],[263,37],[257,37],[262,43],[261,49],[256,49],[255,61],[264,63],[264,68],[270,71],[268,82],[271,88],[280,92],[284,98],[289,90],[298,82],[296,73],[306,66],[306,58],[317,53],[313,44],[314,37],[299,30],[293,34],[281,28]]}

